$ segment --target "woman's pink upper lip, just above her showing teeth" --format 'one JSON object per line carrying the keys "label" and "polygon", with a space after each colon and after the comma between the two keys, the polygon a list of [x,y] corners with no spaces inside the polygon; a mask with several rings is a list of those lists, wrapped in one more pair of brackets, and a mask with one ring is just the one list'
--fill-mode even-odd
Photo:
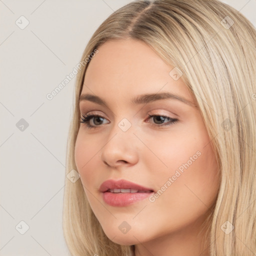
{"label": "woman's pink upper lip, just above her showing teeth", "polygon": [[142,185],[133,183],[131,181],[125,180],[125,179],[119,179],[119,180],[114,180],[114,179],[108,179],[104,181],[100,187],[99,191],[100,192],[105,192],[108,189],[114,189],[114,188],[131,188],[131,189],[138,189],[138,190],[143,190],[143,191],[153,191],[152,188],[144,187]]}

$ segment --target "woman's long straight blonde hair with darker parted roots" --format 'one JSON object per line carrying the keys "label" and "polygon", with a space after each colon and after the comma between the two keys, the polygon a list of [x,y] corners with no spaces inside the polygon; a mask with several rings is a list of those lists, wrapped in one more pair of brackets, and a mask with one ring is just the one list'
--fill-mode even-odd
{"label": "woman's long straight blonde hair with darker parted roots", "polygon": [[[208,218],[210,256],[254,255],[255,28],[237,10],[217,0],[135,0],[113,12],[97,28],[81,61],[104,42],[125,38],[144,41],[166,63],[182,71],[180,79],[197,101],[220,174],[216,203]],[[66,175],[77,170],[78,98],[88,64],[76,77]],[[63,231],[72,255],[133,255],[133,245],[116,244],[104,234],[80,179],[74,183],[65,179]]]}

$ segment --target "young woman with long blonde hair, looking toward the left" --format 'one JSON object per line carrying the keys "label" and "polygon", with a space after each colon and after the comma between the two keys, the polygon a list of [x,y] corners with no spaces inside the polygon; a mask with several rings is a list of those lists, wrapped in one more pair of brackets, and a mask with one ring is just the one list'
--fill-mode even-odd
{"label": "young woman with long blonde hair, looking toward the left", "polygon": [[72,255],[254,255],[255,41],[217,0],[136,0],[98,27],[67,150]]}

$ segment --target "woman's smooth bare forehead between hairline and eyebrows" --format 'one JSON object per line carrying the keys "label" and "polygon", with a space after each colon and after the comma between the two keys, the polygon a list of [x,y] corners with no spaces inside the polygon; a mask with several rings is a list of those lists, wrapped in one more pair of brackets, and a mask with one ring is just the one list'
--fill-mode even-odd
{"label": "woman's smooth bare forehead between hairline and eyebrows", "polygon": [[174,80],[165,63],[146,43],[136,39],[111,40],[98,48],[85,72],[82,93],[111,99],[161,90],[192,100],[182,79]]}

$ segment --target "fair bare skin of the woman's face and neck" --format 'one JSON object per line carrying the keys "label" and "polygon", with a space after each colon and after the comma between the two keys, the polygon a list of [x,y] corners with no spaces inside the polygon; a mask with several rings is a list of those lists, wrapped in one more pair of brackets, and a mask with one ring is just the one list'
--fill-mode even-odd
{"label": "fair bare skin of the woman's face and neck", "polygon": [[[88,129],[81,123],[75,143],[75,163],[92,211],[112,241],[135,244],[135,255],[209,255],[200,226],[214,206],[219,188],[217,161],[197,107],[176,99],[134,105],[144,93],[168,91],[195,104],[182,79],[174,80],[167,65],[147,44],[135,39],[111,40],[98,48],[85,73],[83,93],[95,94],[109,106],[80,101],[81,114],[100,114]],[[177,118],[160,127],[148,114]],[[118,123],[127,118],[131,127]],[[163,118],[168,123],[168,118]],[[200,156],[171,183],[169,177],[196,152]],[[165,191],[125,207],[106,204],[99,192],[107,179],[126,179]],[[126,221],[130,230],[118,226]],[[204,227],[206,227],[204,225]],[[201,231],[199,233],[199,231]]]}

